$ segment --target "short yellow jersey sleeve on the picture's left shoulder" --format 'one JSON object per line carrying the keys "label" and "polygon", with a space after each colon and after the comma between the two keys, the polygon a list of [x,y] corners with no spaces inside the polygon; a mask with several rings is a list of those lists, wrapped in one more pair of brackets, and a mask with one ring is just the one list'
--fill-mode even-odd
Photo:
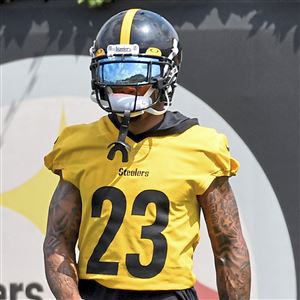
{"label": "short yellow jersey sleeve on the picture's left shoulder", "polygon": [[62,174],[64,180],[78,187],[78,179],[72,162],[72,132],[66,127],[54,142],[52,151],[44,157],[45,166],[54,174]]}

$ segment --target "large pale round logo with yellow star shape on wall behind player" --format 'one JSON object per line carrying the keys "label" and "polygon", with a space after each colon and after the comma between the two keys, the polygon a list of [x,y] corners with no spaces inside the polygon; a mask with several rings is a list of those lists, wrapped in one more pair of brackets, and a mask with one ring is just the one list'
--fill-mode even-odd
{"label": "large pale round logo with yellow star shape on wall behind player", "polygon": [[[92,122],[103,115],[89,101],[88,66],[89,57],[71,55],[28,58],[1,66],[2,298],[53,299],[44,275],[42,244],[58,178],[43,166],[43,157],[64,126]],[[14,83],[18,86],[13,87]],[[175,92],[172,110],[225,133],[233,156],[241,163],[231,184],[251,255],[252,298],[295,299],[295,264],[287,226],[254,155],[222,117],[182,86]],[[194,262],[197,292],[202,299],[217,299],[214,261],[203,220]]]}

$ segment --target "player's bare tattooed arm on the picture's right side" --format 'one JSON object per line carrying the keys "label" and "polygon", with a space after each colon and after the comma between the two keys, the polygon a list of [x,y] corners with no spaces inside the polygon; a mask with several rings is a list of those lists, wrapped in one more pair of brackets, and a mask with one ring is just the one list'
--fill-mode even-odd
{"label": "player's bare tattooed arm on the picture's right side", "polygon": [[250,299],[249,253],[228,178],[216,178],[199,200],[214,253],[220,299]]}

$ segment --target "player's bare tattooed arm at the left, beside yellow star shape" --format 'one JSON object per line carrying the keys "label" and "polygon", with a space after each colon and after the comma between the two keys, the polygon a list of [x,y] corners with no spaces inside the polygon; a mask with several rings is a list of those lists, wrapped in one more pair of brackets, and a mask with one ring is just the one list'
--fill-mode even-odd
{"label": "player's bare tattooed arm at the left, beside yellow star shape", "polygon": [[80,192],[61,178],[51,199],[43,247],[46,277],[56,299],[81,299],[75,258],[80,221]]}

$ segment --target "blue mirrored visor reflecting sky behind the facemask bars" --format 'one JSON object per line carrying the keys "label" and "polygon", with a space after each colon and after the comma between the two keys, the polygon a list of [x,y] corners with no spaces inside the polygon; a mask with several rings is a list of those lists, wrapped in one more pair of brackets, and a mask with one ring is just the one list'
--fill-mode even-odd
{"label": "blue mirrored visor reflecting sky behind the facemask bars", "polygon": [[107,57],[98,61],[97,76],[101,84],[136,85],[162,77],[163,66],[158,58]]}

